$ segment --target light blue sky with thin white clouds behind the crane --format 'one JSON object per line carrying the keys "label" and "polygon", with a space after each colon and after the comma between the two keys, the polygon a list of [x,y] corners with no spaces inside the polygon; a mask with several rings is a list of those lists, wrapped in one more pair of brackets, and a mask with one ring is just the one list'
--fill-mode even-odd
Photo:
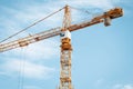
{"label": "light blue sky with thin white clouds behind the crane", "polygon": [[[112,26],[95,24],[72,32],[74,89],[133,89],[132,0],[0,0],[0,40],[70,4],[73,23],[114,7],[124,9]],[[11,40],[62,26],[63,11]],[[0,53],[0,89],[55,89],[60,78],[60,37]],[[24,73],[22,65],[24,60]]]}

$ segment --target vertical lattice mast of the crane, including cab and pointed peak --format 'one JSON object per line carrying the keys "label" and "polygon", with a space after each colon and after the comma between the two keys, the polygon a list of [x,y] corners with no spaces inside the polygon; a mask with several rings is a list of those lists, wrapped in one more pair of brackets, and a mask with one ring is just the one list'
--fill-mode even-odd
{"label": "vertical lattice mast of the crane, including cab and pointed peak", "polygon": [[63,26],[61,29],[61,57],[60,57],[60,86],[59,89],[72,89],[71,80],[71,33],[69,27],[71,26],[70,7],[64,7]]}

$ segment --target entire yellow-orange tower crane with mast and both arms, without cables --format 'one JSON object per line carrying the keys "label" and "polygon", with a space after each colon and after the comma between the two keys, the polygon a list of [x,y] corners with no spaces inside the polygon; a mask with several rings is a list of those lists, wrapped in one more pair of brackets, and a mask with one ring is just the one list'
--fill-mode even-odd
{"label": "entire yellow-orange tower crane with mast and both arms, without cables", "polygon": [[104,22],[104,26],[108,27],[111,24],[111,20],[120,18],[123,16],[123,10],[121,8],[114,8],[106,12],[103,12],[100,16],[96,16],[88,21],[82,21],[80,23],[71,24],[71,9],[69,6],[64,7],[64,18],[63,26],[52,28],[50,30],[28,36],[11,42],[0,43],[0,52],[4,52],[11,49],[25,47],[30,43],[34,43],[48,38],[55,36],[61,37],[61,56],[60,56],[60,86],[59,89],[73,89],[71,80],[71,32],[86,28],[93,24]]}

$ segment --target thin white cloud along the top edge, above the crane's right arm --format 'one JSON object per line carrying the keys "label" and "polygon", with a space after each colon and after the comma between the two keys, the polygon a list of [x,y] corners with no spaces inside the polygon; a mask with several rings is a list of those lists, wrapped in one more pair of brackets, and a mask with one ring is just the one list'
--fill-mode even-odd
{"label": "thin white cloud along the top edge, above the crane's right arm", "polygon": [[111,9],[115,7],[115,3],[119,3],[120,0],[59,0],[62,3],[68,3],[73,7],[81,7],[81,8],[100,8],[103,10]]}

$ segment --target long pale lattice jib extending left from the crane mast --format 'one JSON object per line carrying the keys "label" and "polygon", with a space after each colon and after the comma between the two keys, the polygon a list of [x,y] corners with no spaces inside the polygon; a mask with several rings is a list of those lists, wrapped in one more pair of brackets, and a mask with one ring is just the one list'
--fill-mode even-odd
{"label": "long pale lattice jib extending left from the crane mast", "polygon": [[53,28],[53,29],[50,29],[50,30],[47,30],[40,33],[35,33],[33,36],[28,36],[22,39],[18,39],[18,40],[14,40],[8,43],[0,44],[0,52],[8,51],[8,50],[19,48],[19,47],[25,47],[30,43],[33,43],[33,42],[37,42],[37,41],[40,41],[40,40],[43,40],[50,37],[58,36],[60,34],[60,29],[61,29],[60,27]]}

